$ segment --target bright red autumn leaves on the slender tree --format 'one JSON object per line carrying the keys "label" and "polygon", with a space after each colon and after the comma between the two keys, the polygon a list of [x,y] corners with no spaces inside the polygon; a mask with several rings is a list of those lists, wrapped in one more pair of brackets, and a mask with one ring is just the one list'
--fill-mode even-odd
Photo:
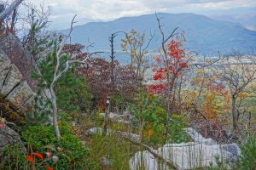
{"label": "bright red autumn leaves on the slender tree", "polygon": [[157,83],[149,86],[149,91],[153,94],[162,94],[166,89],[167,72],[169,72],[172,79],[175,79],[175,77],[179,77],[181,71],[189,67],[188,63],[184,61],[186,54],[182,47],[182,42],[172,40],[166,46],[167,59],[156,58],[157,65],[153,69],[153,80],[157,81]]}

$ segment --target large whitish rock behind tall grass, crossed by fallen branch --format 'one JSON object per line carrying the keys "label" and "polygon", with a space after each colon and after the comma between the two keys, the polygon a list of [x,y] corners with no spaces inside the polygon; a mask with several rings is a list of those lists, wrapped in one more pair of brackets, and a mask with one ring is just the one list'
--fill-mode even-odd
{"label": "large whitish rock behind tall grass, crossed by fallen branch", "polygon": [[[165,144],[158,150],[157,155],[165,160],[171,161],[172,165],[179,170],[195,169],[204,167],[216,167],[217,161],[224,162],[225,167],[230,167],[230,162],[236,161],[241,150],[237,144],[217,144],[212,139],[205,139],[195,129],[189,127],[184,129],[194,142],[183,144]],[[155,160],[148,150],[137,152],[130,160],[131,170],[137,170],[137,166],[143,165],[145,169],[168,169],[162,163]],[[161,168],[163,167],[163,168]]]}

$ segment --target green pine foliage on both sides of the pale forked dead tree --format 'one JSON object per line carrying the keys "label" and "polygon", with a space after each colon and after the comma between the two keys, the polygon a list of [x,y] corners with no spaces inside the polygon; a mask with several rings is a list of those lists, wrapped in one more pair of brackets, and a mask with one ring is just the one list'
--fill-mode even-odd
{"label": "green pine foliage on both sides of the pale forked dead tree", "polygon": [[[38,94],[43,88],[49,88],[53,81],[55,71],[55,53],[57,51],[57,40],[49,43],[49,52],[45,59],[38,62],[40,74],[32,72],[32,78],[38,82]],[[60,70],[66,66],[69,55],[63,54],[60,59]],[[89,93],[87,83],[83,77],[76,74],[77,65],[73,65],[55,84],[55,95],[58,109],[67,113],[85,111],[90,108],[92,94]]]}

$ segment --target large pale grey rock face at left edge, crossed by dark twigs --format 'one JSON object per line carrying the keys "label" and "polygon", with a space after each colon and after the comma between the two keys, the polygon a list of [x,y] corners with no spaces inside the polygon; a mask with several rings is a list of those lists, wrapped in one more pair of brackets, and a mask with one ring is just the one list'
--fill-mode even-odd
{"label": "large pale grey rock face at left edge, crossed by dark twigs", "polygon": [[32,109],[34,93],[20,70],[0,50],[0,110],[4,117],[15,122],[24,119]]}

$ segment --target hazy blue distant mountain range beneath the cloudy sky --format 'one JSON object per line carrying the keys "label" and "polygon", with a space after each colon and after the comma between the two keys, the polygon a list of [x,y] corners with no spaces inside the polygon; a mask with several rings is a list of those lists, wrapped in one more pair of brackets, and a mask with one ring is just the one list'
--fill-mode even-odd
{"label": "hazy blue distant mountain range beneath the cloudy sky", "polygon": [[[248,30],[245,26],[226,21],[213,20],[201,14],[165,14],[162,25],[166,35],[178,27],[178,31],[184,31],[185,48],[196,51],[198,54],[228,54],[233,49],[249,53],[256,49],[256,31]],[[255,21],[255,18],[253,19]],[[232,20],[233,21],[233,20]],[[91,50],[109,51],[108,37],[116,31],[145,32],[149,37],[150,31],[156,31],[156,35],[149,51],[160,48],[160,32],[154,14],[145,14],[137,17],[124,17],[108,22],[90,22],[84,26],[75,26],[72,33],[72,42],[86,44],[88,39],[95,43]],[[68,30],[61,31],[67,34]],[[115,49],[120,51],[120,39],[124,35],[119,34],[115,39]]]}

